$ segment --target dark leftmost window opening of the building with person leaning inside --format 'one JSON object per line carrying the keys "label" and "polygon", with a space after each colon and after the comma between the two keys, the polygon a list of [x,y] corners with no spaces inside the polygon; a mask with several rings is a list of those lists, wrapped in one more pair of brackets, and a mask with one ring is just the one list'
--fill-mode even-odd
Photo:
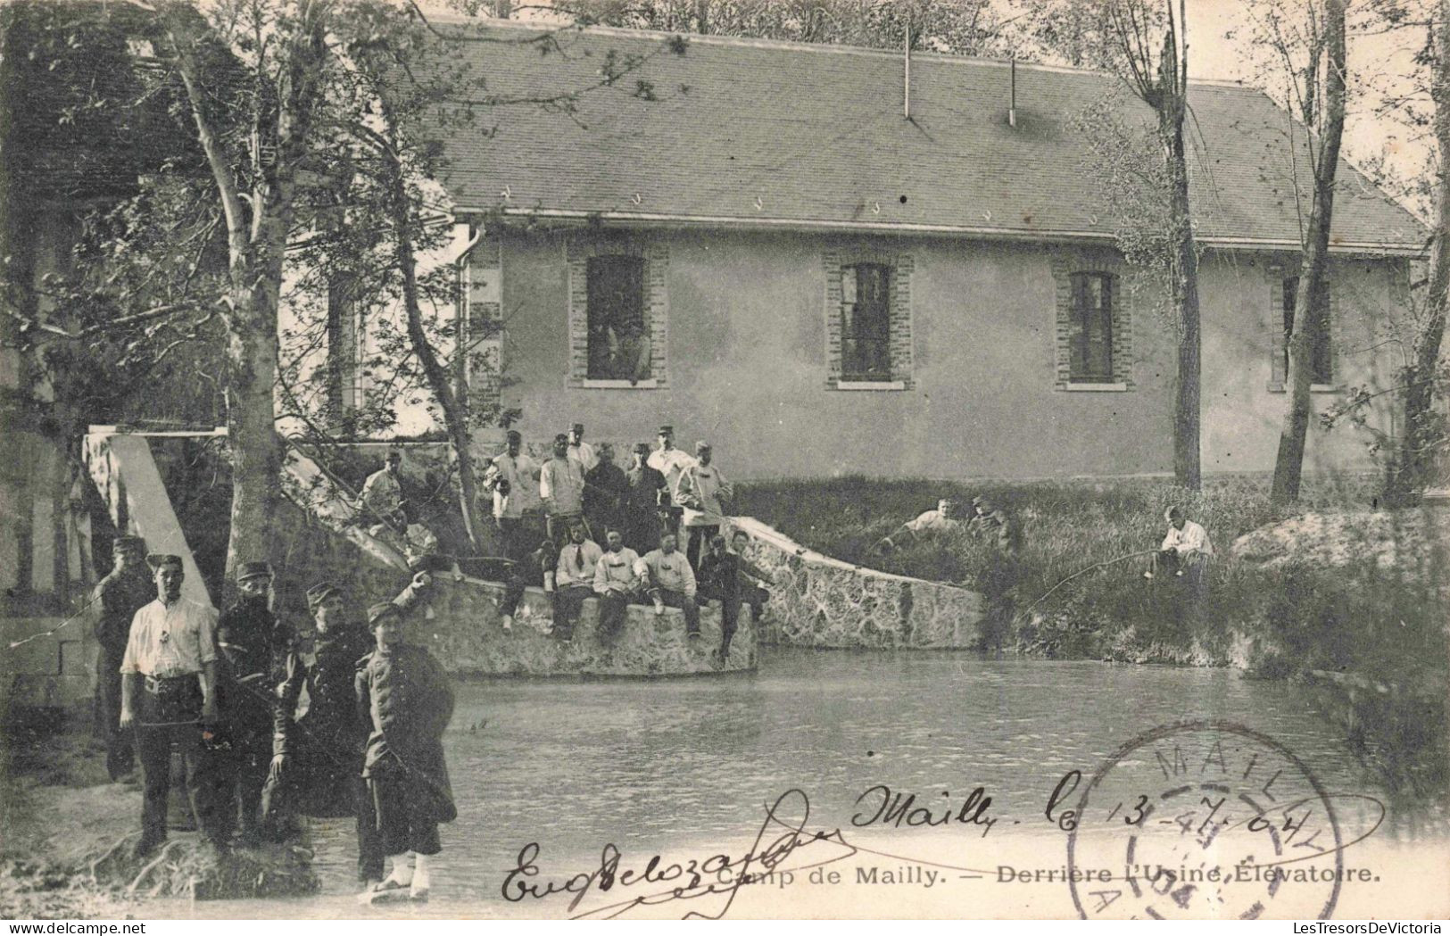
{"label": "dark leftmost window opening of the building with person leaning inside", "polygon": [[648,377],[650,333],[644,314],[644,258],[590,256],[587,283],[587,378]]}

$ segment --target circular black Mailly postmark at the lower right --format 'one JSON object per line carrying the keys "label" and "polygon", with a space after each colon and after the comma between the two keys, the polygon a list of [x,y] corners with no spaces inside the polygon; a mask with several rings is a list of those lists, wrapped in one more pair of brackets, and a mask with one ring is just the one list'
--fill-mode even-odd
{"label": "circular black Mailly postmark at the lower right", "polygon": [[1086,782],[1067,837],[1088,920],[1327,919],[1343,861],[1331,797],[1304,761],[1219,720],[1118,748]]}

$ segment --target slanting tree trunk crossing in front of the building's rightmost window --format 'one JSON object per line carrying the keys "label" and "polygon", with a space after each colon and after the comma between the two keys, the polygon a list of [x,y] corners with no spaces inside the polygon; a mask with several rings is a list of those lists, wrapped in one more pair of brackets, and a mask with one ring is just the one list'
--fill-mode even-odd
{"label": "slanting tree trunk crossing in front of the building's rightmost window", "polygon": [[1275,461],[1273,490],[1276,504],[1299,497],[1304,475],[1304,443],[1309,429],[1309,381],[1314,369],[1314,339],[1322,322],[1314,314],[1320,298],[1328,296],[1327,268],[1330,222],[1334,216],[1334,175],[1340,162],[1340,138],[1344,135],[1344,0],[1324,0],[1325,54],[1322,125],[1320,152],[1314,167],[1314,204],[1299,265],[1299,288],[1293,300],[1293,325],[1289,329],[1289,367],[1285,375],[1286,400],[1279,456]]}

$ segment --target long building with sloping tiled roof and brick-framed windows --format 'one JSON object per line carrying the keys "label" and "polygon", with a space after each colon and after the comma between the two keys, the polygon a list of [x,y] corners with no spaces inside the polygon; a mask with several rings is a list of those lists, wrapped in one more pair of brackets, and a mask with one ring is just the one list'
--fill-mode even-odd
{"label": "long building with sloping tiled roof and brick-framed windows", "polygon": [[[908,72],[896,52],[716,36],[682,52],[612,29],[539,55],[528,26],[490,29],[521,41],[460,55],[502,97],[638,62],[571,116],[505,107],[444,135],[455,214],[481,235],[464,314],[502,326],[484,345],[503,381],[473,393],[521,407],[528,438],[670,422],[737,477],[1172,469],[1172,326],[1115,246],[1089,143],[1148,120],[1112,77],[934,54]],[[1253,88],[1195,83],[1190,103],[1204,468],[1263,471],[1305,132]],[[1388,385],[1425,242],[1350,165],[1334,222],[1317,409]],[[1375,419],[1392,429],[1388,407]],[[1306,467],[1367,467],[1364,440],[1315,429]]]}

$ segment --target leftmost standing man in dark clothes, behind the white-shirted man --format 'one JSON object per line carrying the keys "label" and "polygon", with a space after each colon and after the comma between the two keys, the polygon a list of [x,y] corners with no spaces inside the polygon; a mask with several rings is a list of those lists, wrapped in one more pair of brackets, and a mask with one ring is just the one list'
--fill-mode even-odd
{"label": "leftmost standing man in dark clothes, behind the white-shirted man", "polygon": [[106,743],[106,772],[120,780],[136,766],[135,737],[120,730],[120,661],[126,656],[130,619],[157,597],[157,585],[146,574],[146,540],[117,536],[112,545],[116,567],[96,584],[93,603],[99,606],[96,639],[96,729]]}

